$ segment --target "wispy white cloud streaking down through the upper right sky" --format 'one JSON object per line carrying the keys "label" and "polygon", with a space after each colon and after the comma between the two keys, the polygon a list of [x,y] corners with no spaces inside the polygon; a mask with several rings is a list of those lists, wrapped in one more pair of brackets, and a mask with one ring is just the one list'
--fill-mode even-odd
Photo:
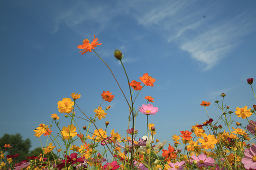
{"label": "wispy white cloud streaking down through the upper right sky", "polygon": [[224,13],[228,6],[222,1],[204,6],[197,1],[171,1],[134,16],[141,25],[155,29],[167,42],[175,42],[189,52],[203,70],[209,70],[242,43],[242,37],[252,33],[256,25],[256,19],[246,11]]}

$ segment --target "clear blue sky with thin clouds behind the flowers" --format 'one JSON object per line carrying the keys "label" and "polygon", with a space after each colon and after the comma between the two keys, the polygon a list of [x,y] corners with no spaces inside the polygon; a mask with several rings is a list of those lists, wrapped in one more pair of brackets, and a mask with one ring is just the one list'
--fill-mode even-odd
{"label": "clear blue sky with thin clouds behind the flowers", "polygon": [[[146,95],[155,99],[160,111],[149,122],[160,141],[173,143],[174,134],[207,120],[201,101],[211,102],[208,114],[217,120],[221,111],[214,101],[223,92],[230,110],[252,108],[256,103],[247,78],[256,75],[255,7],[254,0],[0,1],[0,136],[20,133],[31,139],[32,148],[40,146],[33,129],[50,125],[51,114],[58,114],[61,127],[69,124],[58,112],[58,101],[81,93],[80,108],[93,116],[103,90],[115,98],[103,102],[112,107],[96,124],[102,128],[110,121],[107,135],[113,128],[125,134],[128,106],[118,85],[95,53],[81,55],[77,49],[93,34],[102,43],[96,51],[127,96],[115,49],[124,54],[130,81],[139,81],[144,73],[156,79],[154,87],[141,91],[135,109],[146,104]],[[232,118],[243,122],[234,114]],[[87,126],[77,121],[80,128]],[[144,136],[146,115],[138,114],[136,128],[137,139]]]}

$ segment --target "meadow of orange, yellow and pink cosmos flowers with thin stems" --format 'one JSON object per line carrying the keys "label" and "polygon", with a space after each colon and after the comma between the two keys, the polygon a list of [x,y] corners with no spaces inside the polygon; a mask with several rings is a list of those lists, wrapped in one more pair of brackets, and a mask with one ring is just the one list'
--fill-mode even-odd
{"label": "meadow of orange, yellow and pink cosmos flowers with thin stems", "polygon": [[[19,153],[6,154],[12,146],[5,144],[0,148],[1,170],[256,170],[256,105],[234,106],[233,109],[236,109],[231,110],[225,101],[226,93],[220,93],[214,103],[198,103],[207,121],[191,122],[191,129],[181,130],[180,134],[168,134],[173,137],[174,145],[168,144],[171,141],[159,141],[157,134],[161,132],[156,133],[154,117],[161,114],[161,108],[154,104],[150,94],[140,95],[144,88],[154,91],[157,77],[145,71],[139,73],[136,80],[129,79],[122,61],[124,55],[115,50],[113,59],[120,62],[123,68],[120,71],[124,71],[127,78],[127,86],[121,87],[109,65],[98,55],[99,45],[104,46],[94,35],[91,42],[83,40],[82,45],[77,46],[80,50],[77,52],[82,55],[95,53],[99,62],[107,66],[110,76],[114,77],[110,83],[119,86],[127,103],[127,108],[124,108],[127,114],[123,115],[127,120],[124,122],[128,125],[127,130],[119,131],[118,127],[109,129],[108,125],[114,122],[104,121],[111,114],[114,93],[107,89],[102,91],[98,95],[100,104],[95,103],[94,116],[89,116],[79,103],[83,94],[74,92],[56,101],[59,113],[51,114],[52,122],[38,122],[38,127],[31,129],[38,139],[47,138],[46,144],[42,144],[43,154],[27,156],[26,160],[15,163],[13,158],[18,157]],[[101,85],[104,88],[104,84]],[[129,93],[125,93],[125,88]],[[251,88],[256,99],[253,78],[248,77],[245,88]],[[139,100],[146,102],[137,107],[135,103]],[[102,103],[109,106],[103,107]],[[209,106],[219,109],[218,119],[213,119],[207,112]],[[147,131],[142,132],[145,136],[138,136],[138,115],[145,117]],[[61,117],[70,120],[70,123],[60,126]],[[77,124],[77,119],[85,123]],[[242,119],[247,120],[247,125],[239,123]],[[99,122],[105,124],[105,128],[98,127]],[[53,152],[57,156],[50,161],[48,157]]]}

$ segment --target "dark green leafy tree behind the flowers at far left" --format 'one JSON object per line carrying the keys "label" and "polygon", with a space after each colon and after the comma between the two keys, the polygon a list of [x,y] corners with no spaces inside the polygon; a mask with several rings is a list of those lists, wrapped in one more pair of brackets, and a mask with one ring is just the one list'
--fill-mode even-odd
{"label": "dark green leafy tree behind the flowers at far left", "polygon": [[[5,144],[10,144],[11,148],[5,148]],[[29,153],[29,148],[31,147],[31,141],[29,138],[23,140],[22,136],[17,133],[15,135],[4,134],[0,138],[0,148],[2,151],[6,151],[6,155],[19,154],[18,157],[14,158],[14,162],[20,162],[26,159]]]}

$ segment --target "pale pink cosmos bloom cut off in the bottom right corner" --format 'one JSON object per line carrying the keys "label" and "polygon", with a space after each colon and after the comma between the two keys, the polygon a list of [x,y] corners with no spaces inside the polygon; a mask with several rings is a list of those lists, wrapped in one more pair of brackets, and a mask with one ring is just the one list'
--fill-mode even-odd
{"label": "pale pink cosmos bloom cut off in the bottom right corner", "polygon": [[256,169],[256,145],[252,145],[250,148],[245,149],[245,157],[242,159],[242,163],[244,164],[247,170]]}

